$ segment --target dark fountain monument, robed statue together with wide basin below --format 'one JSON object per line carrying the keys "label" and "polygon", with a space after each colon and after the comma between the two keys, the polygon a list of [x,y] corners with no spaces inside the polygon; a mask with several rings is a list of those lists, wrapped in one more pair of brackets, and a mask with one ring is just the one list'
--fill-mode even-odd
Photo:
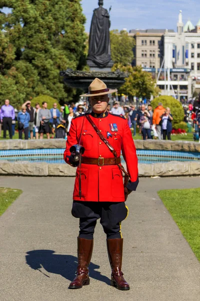
{"label": "dark fountain monument, robed statue together with wide basin below", "polygon": [[93,11],[90,27],[89,51],[87,65],[90,71],[74,71],[67,68],[60,71],[64,77],[64,82],[72,88],[88,90],[88,86],[95,77],[98,77],[110,88],[119,88],[125,82],[128,75],[120,70],[111,71],[114,62],[111,60],[109,13],[103,6],[103,0],[98,1],[99,8]]}

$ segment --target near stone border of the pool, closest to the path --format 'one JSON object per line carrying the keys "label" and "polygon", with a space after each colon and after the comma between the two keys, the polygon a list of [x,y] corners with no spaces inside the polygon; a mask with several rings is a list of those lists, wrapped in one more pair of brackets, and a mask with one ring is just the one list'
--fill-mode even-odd
{"label": "near stone border of the pool, closest to the path", "polygon": [[[123,164],[125,167],[125,164]],[[139,177],[199,176],[200,162],[138,164]],[[28,163],[27,161],[0,161],[0,175],[37,177],[74,177],[76,169],[68,164]]]}

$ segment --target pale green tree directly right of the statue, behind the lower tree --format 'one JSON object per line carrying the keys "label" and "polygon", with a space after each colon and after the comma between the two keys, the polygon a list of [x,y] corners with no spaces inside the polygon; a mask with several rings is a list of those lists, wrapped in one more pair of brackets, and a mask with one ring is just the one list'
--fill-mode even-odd
{"label": "pale green tree directly right of the statue, behind the lower tree", "polygon": [[128,33],[124,30],[110,31],[111,59],[116,64],[122,66],[131,65],[133,60],[134,39],[128,37]]}

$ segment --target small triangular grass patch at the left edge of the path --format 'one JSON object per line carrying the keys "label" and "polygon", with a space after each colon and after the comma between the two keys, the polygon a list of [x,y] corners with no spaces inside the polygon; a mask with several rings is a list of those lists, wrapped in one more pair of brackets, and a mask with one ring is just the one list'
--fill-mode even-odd
{"label": "small triangular grass patch at the left edge of the path", "polygon": [[21,193],[19,189],[0,187],[0,216]]}

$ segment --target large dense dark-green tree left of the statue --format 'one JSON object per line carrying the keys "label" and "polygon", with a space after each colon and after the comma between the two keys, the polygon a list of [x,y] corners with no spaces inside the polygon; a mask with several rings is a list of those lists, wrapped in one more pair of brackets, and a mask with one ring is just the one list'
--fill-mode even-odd
{"label": "large dense dark-green tree left of the statue", "polygon": [[[86,36],[80,0],[0,0],[2,7],[12,9],[0,13],[0,74],[16,85],[12,104],[39,94],[70,100],[74,90],[59,71],[81,68]],[[0,102],[6,95],[5,87]]]}

